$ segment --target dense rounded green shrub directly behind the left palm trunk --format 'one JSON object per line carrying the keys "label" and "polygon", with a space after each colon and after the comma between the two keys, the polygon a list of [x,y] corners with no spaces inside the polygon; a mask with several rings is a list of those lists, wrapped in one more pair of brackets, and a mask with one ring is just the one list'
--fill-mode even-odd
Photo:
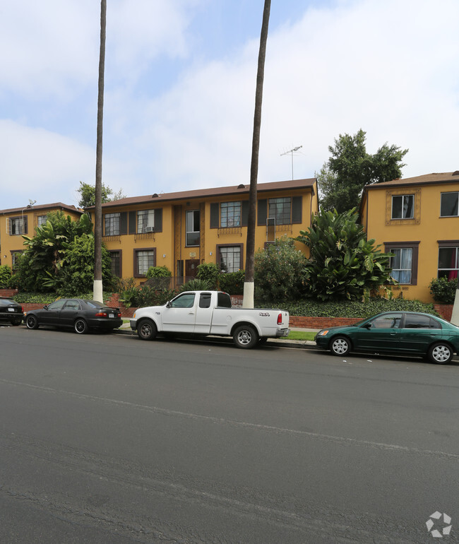
{"label": "dense rounded green shrub directly behind the left palm trunk", "polygon": [[[56,277],[56,287],[61,294],[76,296],[93,290],[94,281],[94,236],[83,234],[68,244],[64,265]],[[102,281],[112,285],[112,263],[110,254],[102,246]]]}

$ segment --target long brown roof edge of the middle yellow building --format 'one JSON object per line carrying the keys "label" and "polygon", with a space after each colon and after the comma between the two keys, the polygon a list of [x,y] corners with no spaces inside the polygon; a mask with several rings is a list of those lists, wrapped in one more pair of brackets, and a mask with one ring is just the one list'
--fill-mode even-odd
{"label": "long brown roof edge of the middle yellow building", "polygon": [[[290,191],[292,189],[310,189],[312,194],[315,194],[314,184],[316,183],[316,178],[312,177],[310,179],[293,179],[287,182],[270,182],[270,183],[259,183],[257,185],[258,193],[266,193],[268,191]],[[250,185],[239,184],[233,185],[231,187],[211,187],[209,189],[194,189],[193,191],[178,191],[175,193],[162,193],[157,195],[145,195],[145,196],[130,196],[126,199],[114,200],[110,202],[105,202],[102,204],[102,208],[119,208],[121,206],[133,206],[135,204],[146,204],[146,203],[159,203],[159,202],[170,202],[174,200],[193,200],[193,199],[203,199],[210,196],[236,196],[240,194],[249,195]],[[95,206],[88,206],[86,210],[91,210]]]}

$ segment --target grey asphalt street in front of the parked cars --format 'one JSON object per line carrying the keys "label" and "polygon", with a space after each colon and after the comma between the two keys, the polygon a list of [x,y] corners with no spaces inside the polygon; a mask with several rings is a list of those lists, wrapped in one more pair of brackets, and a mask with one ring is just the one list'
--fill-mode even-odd
{"label": "grey asphalt street in front of the parked cars", "polygon": [[457,360],[3,326],[0,542],[457,541],[458,393]]}

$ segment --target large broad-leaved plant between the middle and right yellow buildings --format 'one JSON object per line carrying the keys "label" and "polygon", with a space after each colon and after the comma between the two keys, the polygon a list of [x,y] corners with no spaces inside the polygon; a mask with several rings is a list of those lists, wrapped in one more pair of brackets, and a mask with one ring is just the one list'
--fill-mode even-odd
{"label": "large broad-leaved plant between the middle and right yellow buildings", "polygon": [[295,240],[309,247],[305,266],[305,295],[318,300],[362,300],[391,278],[391,254],[382,253],[374,240],[366,240],[355,209],[316,215],[308,230]]}

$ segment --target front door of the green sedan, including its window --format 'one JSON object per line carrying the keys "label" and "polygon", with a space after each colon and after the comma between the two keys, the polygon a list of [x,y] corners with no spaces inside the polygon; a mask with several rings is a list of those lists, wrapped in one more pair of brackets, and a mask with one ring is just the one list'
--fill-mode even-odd
{"label": "front door of the green sedan, including its window", "polygon": [[367,321],[352,339],[354,348],[369,351],[396,351],[400,342],[402,312],[388,312]]}

